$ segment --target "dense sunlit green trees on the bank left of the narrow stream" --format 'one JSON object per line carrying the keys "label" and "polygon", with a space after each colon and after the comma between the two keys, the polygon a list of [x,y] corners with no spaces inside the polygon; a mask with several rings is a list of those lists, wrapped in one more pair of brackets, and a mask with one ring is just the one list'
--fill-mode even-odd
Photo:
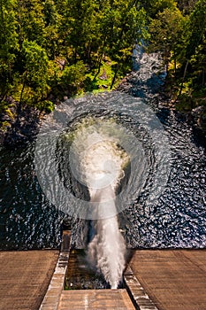
{"label": "dense sunlit green trees on the bank left of the narrow stream", "polygon": [[134,0],[1,0],[0,9],[0,100],[13,97],[19,111],[49,112],[50,97],[112,87],[135,40],[148,35],[147,13]]}

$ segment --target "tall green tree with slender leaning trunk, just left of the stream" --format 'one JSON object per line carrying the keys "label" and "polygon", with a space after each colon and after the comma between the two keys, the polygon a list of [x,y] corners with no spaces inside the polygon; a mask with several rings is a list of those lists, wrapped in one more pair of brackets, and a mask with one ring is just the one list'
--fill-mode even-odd
{"label": "tall green tree with slender leaning trunk, just left of the stream", "polygon": [[146,12],[143,8],[138,10],[133,0],[112,1],[111,7],[105,11],[103,24],[107,28],[104,50],[116,62],[112,88],[118,71],[125,73],[124,67],[128,59],[131,59],[134,43],[141,43],[141,40],[148,37]]}

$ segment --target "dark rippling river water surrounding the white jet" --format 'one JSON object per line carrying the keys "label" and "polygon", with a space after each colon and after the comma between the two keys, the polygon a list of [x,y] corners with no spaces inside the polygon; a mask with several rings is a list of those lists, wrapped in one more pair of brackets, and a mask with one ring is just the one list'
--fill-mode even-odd
{"label": "dark rippling river water surrounding the white jet", "polygon": [[[60,129],[67,135],[82,120],[90,118],[92,124],[95,120],[118,124],[112,125],[116,136],[117,126],[126,128],[126,135],[133,135],[130,145],[118,136],[124,149],[131,149],[135,155],[125,181],[119,186],[119,192],[123,193],[120,200],[130,197],[123,206],[119,203],[118,210],[119,226],[128,247],[203,248],[206,246],[205,149],[184,118],[164,105],[161,88],[165,72],[159,55],[147,55],[137,47],[133,59],[134,71],[127,75],[120,92],[89,95],[58,106],[58,118],[64,119],[66,112],[69,117],[66,128]],[[141,103],[149,107],[145,118],[152,111],[161,124],[160,134],[156,125],[153,133],[146,130],[142,108],[141,113],[138,110]],[[50,115],[46,120],[50,131],[57,125],[55,117],[52,118]],[[56,248],[61,222],[65,215],[71,215],[45,195],[34,166],[35,147],[34,141],[17,150],[4,147],[0,150],[0,249],[3,250]],[[50,144],[45,143],[44,148],[47,147],[50,149]],[[65,151],[62,140],[58,141],[57,151],[59,154]],[[64,155],[56,159],[59,169],[63,167],[59,175],[65,188],[71,190],[71,174],[64,174],[67,165]],[[81,194],[85,195],[84,200],[88,199],[87,192]],[[80,195],[80,190],[75,195]],[[71,198],[70,204],[73,208],[75,199]],[[89,218],[82,217],[85,219],[72,219],[74,247],[83,247],[85,243],[84,227],[89,226]]]}

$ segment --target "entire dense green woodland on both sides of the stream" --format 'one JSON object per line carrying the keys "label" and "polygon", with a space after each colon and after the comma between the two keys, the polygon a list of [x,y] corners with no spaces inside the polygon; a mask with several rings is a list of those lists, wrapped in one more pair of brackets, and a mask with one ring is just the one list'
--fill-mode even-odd
{"label": "entire dense green woodland on both sides of the stream", "polygon": [[162,53],[177,109],[206,118],[205,20],[206,0],[0,0],[0,113],[112,89],[139,43]]}

